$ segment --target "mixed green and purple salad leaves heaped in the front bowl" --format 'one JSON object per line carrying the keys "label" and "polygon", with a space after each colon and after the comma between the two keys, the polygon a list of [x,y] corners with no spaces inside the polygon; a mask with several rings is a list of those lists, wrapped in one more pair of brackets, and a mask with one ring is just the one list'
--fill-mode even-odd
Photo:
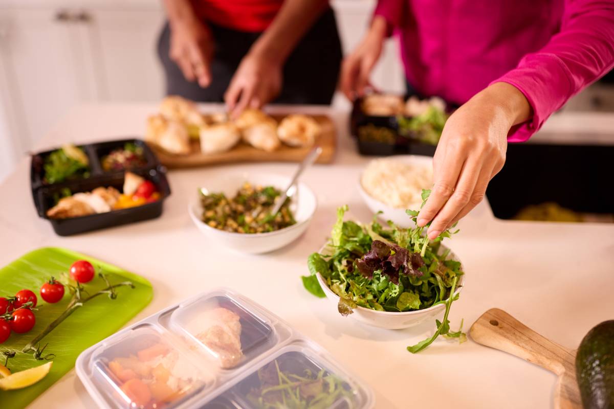
{"label": "mixed green and purple salad leaves heaped in the front bowl", "polygon": [[[429,190],[422,191],[422,204]],[[441,240],[458,231],[449,229],[437,239],[429,240],[424,227],[404,229],[389,221],[382,226],[373,218],[370,224],[344,221],[348,206],[338,208],[337,221],[330,242],[322,253],[309,256],[311,275],[302,277],[303,286],[317,297],[324,297],[317,273],[328,288],[339,296],[338,311],[347,316],[357,307],[387,312],[424,310],[445,304],[443,323],[437,321],[437,332],[418,345],[408,347],[412,353],[423,350],[438,337],[465,339],[462,330],[451,332],[448,314],[454,292],[464,274],[459,261],[441,248]],[[417,210],[407,210],[414,223]]]}

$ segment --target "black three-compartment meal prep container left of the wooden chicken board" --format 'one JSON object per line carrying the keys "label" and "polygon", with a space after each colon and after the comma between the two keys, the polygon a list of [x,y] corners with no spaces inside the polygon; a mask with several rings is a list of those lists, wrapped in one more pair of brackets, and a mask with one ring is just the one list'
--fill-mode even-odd
{"label": "black three-compartment meal prep container left of the wooden chicken board", "polygon": [[[55,205],[56,197],[65,188],[69,188],[72,194],[92,191],[99,186],[113,186],[121,192],[125,170],[112,170],[106,172],[102,168],[101,159],[112,150],[123,148],[126,143],[134,143],[142,147],[143,155],[146,159],[146,164],[144,166],[127,170],[153,182],[160,193],[160,200],[137,207],[111,210],[111,212],[98,213],[95,215],[66,219],[52,219],[47,217],[47,210]],[[171,188],[166,178],[166,168],[160,164],[157,156],[155,156],[153,151],[147,146],[147,143],[139,139],[122,139],[77,146],[85,152],[90,161],[90,174],[87,178],[79,177],[64,180],[64,182],[61,183],[46,183],[44,182],[44,160],[47,155],[59,148],[32,155],[30,180],[34,206],[39,216],[51,222],[56,234],[61,236],[79,234],[87,231],[104,229],[106,227],[134,223],[136,221],[149,220],[157,218],[162,214],[162,202],[171,194]]]}

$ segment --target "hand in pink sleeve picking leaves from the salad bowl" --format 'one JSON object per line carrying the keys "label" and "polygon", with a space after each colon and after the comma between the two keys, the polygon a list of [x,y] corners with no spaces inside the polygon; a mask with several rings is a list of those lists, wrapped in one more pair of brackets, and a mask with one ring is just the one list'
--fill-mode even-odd
{"label": "hand in pink sleeve picking leaves from the salad bowl", "polygon": [[433,188],[418,215],[418,226],[432,221],[430,239],[484,199],[488,182],[505,163],[510,128],[529,117],[524,94],[503,82],[476,94],[451,115],[433,156]]}

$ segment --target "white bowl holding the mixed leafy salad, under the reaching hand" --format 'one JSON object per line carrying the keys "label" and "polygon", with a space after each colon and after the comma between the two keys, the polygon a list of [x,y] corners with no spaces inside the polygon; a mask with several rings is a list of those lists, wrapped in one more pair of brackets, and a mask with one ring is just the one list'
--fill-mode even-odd
{"label": "white bowl holding the mixed leafy salad, under the reaching hand", "polygon": [[[445,250],[446,247],[441,245],[440,251]],[[322,251],[328,251],[325,246]],[[325,253],[324,253],[325,254]],[[460,261],[456,254],[452,251],[449,253],[449,257],[453,260]],[[320,283],[324,294],[326,294],[327,299],[330,301],[330,304],[335,305],[335,313],[336,306],[339,304],[339,296],[335,294],[332,289],[328,288],[326,285],[326,281],[324,277],[320,273],[317,273],[317,281]],[[465,284],[465,274],[459,277],[459,280],[456,283],[456,290],[454,294],[459,294]],[[434,320],[435,318],[441,319],[443,316],[443,312],[445,311],[445,304],[438,304],[434,307],[425,308],[424,310],[418,311],[407,311],[407,312],[388,312],[388,311],[376,311],[370,310],[365,307],[357,307],[354,308],[354,312],[348,315],[351,318],[356,319],[356,321],[360,321],[363,324],[367,324],[373,327],[384,328],[384,329],[403,329],[416,326],[421,324],[427,319]]]}

